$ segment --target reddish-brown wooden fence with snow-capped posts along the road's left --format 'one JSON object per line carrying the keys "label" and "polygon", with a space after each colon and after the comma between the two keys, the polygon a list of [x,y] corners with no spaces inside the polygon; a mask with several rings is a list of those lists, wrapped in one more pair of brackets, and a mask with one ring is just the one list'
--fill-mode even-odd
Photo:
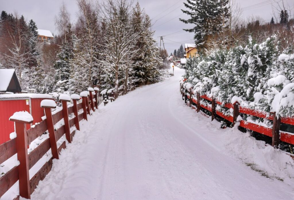
{"label": "reddish-brown wooden fence with snow-capped posts along the road's left", "polygon": [[[83,119],[87,120],[87,114],[91,115],[90,110],[95,111],[95,108],[98,109],[98,90],[93,92],[91,88],[89,89],[88,90],[91,92],[89,92],[88,95],[81,95],[81,103],[77,102],[79,100],[79,95],[71,95],[73,101],[72,107],[67,106],[67,102],[70,101],[70,99],[62,97],[60,99],[62,102],[62,110],[55,114],[51,112],[51,108],[56,107],[56,105],[54,106],[51,104],[52,102],[54,103],[53,100],[49,100],[52,101],[51,103],[41,103],[41,107],[45,109],[46,119],[29,130],[26,130],[26,123],[31,123],[28,122],[28,120],[10,118],[11,121],[15,122],[16,138],[0,145],[0,164],[17,153],[19,165],[14,166],[0,177],[0,199],[17,181],[19,181],[19,195],[26,199],[30,199],[39,181],[43,180],[50,172],[52,159],[59,159],[60,151],[66,148],[65,141],[59,147],[57,147],[57,141],[65,134],[66,140],[71,143],[75,134],[75,130],[71,128],[75,127],[77,130],[80,130],[79,121]],[[69,119],[69,115],[72,113],[74,113],[74,118]],[[64,120],[64,125],[55,130],[54,125],[60,120]],[[39,146],[28,154],[28,145],[46,131],[49,132],[49,138],[40,143]],[[50,149],[52,158],[50,158],[30,179],[29,169],[31,169]],[[18,198],[19,196],[15,199]]]}

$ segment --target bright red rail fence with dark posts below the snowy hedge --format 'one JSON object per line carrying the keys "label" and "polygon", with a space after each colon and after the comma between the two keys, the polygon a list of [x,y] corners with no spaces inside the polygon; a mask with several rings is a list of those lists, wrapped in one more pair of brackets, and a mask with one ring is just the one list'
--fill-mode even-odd
{"label": "bright red rail fence with dark posts below the snowy hedge", "polygon": [[[217,101],[215,97],[210,98],[207,95],[201,95],[199,92],[196,92],[196,98],[195,97],[190,98],[192,95],[195,96],[195,94],[194,94],[192,88],[187,90],[183,87],[183,84],[180,84],[180,91],[182,93],[182,96],[185,97],[185,102],[187,100],[189,101],[190,107],[191,107],[192,103],[195,103],[197,105],[196,107],[192,106],[192,108],[196,109],[197,112],[199,112],[201,108],[204,108],[204,109],[210,111],[211,112],[211,120],[213,120],[216,117],[216,115],[218,115],[221,118],[224,118],[224,119],[230,121],[231,123],[233,123],[233,125],[235,125],[235,123],[237,121],[239,121],[240,127],[243,127],[243,128],[255,131],[257,133],[261,133],[263,135],[267,135],[269,137],[272,137],[273,138],[272,139],[272,146],[274,146],[275,148],[278,147],[280,141],[294,144],[294,133],[285,133],[283,131],[280,131],[280,123],[294,125],[294,118],[289,118],[289,117],[277,118],[275,116],[275,113],[270,113],[270,115],[268,115],[266,112],[263,112],[263,111],[258,111],[258,110],[253,110],[250,108],[242,107],[242,106],[240,106],[238,101],[236,101],[235,103],[225,103],[224,104],[225,108],[233,109],[233,116],[231,116],[231,115],[227,116],[227,115],[224,115],[222,112],[216,110],[216,105],[217,104],[222,105],[222,103]],[[201,99],[205,99],[205,100],[210,101],[211,106],[201,104]],[[258,125],[258,124],[255,124],[255,123],[252,123],[252,122],[249,122],[246,120],[242,120],[242,119],[238,120],[237,118],[240,113],[272,120],[273,121],[273,128],[268,128],[268,127]]]}

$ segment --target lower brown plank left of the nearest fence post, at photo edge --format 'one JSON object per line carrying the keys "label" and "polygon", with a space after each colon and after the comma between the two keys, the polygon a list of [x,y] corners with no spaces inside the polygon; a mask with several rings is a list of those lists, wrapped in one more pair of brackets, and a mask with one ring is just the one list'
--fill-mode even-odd
{"label": "lower brown plank left of the nearest fence post, at photo edge", "polygon": [[18,166],[9,170],[4,176],[0,177],[0,197],[7,191],[13,184],[18,181]]}

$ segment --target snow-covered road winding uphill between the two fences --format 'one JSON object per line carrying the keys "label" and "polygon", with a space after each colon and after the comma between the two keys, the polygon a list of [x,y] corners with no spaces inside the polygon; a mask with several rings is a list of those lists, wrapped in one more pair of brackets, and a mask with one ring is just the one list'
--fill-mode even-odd
{"label": "snow-covered road winding uphill between the two fences", "polygon": [[[293,199],[293,182],[261,176],[224,151],[235,148],[224,143],[232,131],[184,105],[183,73],[175,69],[174,77],[100,107],[32,199]],[[235,135],[248,149],[259,144]]]}

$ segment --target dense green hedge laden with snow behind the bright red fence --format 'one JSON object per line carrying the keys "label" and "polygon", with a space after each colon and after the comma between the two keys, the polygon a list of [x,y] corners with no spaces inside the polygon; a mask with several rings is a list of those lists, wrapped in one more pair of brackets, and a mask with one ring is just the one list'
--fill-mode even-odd
{"label": "dense green hedge laden with snow behind the bright red fence", "polygon": [[245,47],[190,58],[185,78],[194,92],[221,102],[238,98],[242,106],[293,117],[294,54],[291,48],[280,51],[276,44],[276,36],[261,44],[250,37]]}

